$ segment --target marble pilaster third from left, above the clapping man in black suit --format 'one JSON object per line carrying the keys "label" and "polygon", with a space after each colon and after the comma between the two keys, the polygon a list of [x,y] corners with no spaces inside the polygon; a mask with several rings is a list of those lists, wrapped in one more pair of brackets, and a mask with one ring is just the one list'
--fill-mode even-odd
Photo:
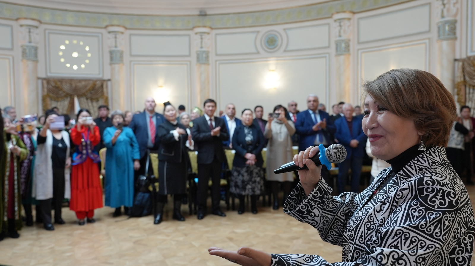
{"label": "marble pilaster third from left, above the clapping man in black suit", "polygon": [[[210,97],[209,90],[209,50],[211,48],[211,28],[195,27],[195,49],[196,49],[196,97],[192,97],[193,106],[201,106]],[[196,101],[194,101],[196,99]]]}

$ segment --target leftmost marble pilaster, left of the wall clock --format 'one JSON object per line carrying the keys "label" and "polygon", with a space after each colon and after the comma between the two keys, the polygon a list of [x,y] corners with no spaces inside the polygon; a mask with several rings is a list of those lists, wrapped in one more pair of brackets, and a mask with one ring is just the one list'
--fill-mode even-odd
{"label": "leftmost marble pilaster, left of the wall clock", "polygon": [[[21,45],[21,62],[23,67],[22,94],[23,108],[20,114],[40,113],[38,106],[38,27],[40,22],[34,19],[17,20],[20,26],[19,43]],[[18,108],[17,108],[18,110]]]}

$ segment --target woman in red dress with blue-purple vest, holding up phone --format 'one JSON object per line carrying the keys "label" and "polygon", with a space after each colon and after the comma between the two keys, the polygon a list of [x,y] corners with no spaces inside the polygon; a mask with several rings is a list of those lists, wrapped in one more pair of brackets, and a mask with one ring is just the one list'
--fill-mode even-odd
{"label": "woman in red dress with blue-purple vest, holding up phone", "polygon": [[71,170],[71,201],[69,209],[76,212],[79,225],[95,222],[94,210],[102,208],[102,188],[99,178],[99,154],[94,146],[101,141],[99,127],[91,113],[81,109],[77,113],[77,124],[71,129],[71,139],[76,145]]}

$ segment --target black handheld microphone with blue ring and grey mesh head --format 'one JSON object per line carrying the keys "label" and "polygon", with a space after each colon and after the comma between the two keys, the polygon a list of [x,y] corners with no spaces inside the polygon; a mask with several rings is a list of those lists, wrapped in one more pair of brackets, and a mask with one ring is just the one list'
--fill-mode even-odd
{"label": "black handheld microphone with blue ring and grey mesh head", "polygon": [[[325,149],[323,144],[318,145],[318,149],[320,149],[320,156],[314,156],[309,158],[313,160],[317,166],[325,165],[328,170],[332,168],[332,163],[341,163],[343,160],[346,159],[346,150],[342,144],[332,144],[328,148]],[[293,172],[297,170],[308,169],[306,165],[304,167],[299,167],[295,164],[295,162],[291,161],[282,165],[280,168],[275,169],[274,173],[276,174],[283,174],[288,172]]]}

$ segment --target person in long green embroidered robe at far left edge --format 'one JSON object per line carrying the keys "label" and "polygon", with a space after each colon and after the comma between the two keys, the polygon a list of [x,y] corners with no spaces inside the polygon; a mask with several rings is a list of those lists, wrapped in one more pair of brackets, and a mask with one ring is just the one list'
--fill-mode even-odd
{"label": "person in long green embroidered robe at far left edge", "polygon": [[1,145],[3,156],[0,161],[0,240],[5,237],[19,238],[23,226],[21,219],[21,161],[28,156],[28,150],[21,141],[10,116],[3,117],[4,132]]}

